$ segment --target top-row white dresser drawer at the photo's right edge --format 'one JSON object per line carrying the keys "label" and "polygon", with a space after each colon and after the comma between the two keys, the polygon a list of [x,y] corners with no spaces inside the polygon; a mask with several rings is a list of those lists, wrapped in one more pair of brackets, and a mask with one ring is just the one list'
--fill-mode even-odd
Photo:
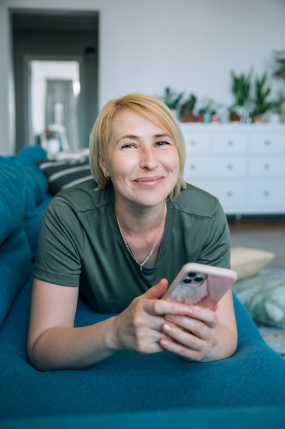
{"label": "top-row white dresser drawer at the photo's right edge", "polygon": [[249,152],[252,154],[285,154],[285,133],[252,134]]}

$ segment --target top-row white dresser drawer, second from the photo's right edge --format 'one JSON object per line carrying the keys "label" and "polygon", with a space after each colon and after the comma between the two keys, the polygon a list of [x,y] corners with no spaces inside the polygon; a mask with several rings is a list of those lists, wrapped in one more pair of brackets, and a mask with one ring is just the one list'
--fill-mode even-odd
{"label": "top-row white dresser drawer, second from the photo's right edge", "polygon": [[215,134],[213,136],[214,154],[246,154],[247,134]]}

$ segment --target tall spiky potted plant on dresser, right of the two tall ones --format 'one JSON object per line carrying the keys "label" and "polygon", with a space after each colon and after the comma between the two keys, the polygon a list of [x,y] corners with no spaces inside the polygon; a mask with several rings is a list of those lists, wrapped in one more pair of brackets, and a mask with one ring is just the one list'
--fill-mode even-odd
{"label": "tall spiky potted plant on dresser, right of the two tall ones", "polygon": [[268,96],[271,92],[267,84],[267,73],[264,73],[262,77],[256,77],[254,82],[254,109],[252,110],[252,119],[254,122],[263,122],[263,115],[271,109],[271,101],[268,100]]}

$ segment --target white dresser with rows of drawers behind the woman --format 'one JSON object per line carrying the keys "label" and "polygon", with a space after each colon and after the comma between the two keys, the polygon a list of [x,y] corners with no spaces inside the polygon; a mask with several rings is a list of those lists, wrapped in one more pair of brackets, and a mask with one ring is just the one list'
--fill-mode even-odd
{"label": "white dresser with rows of drawers behind the woman", "polygon": [[185,180],[227,215],[285,214],[285,124],[181,123]]}

